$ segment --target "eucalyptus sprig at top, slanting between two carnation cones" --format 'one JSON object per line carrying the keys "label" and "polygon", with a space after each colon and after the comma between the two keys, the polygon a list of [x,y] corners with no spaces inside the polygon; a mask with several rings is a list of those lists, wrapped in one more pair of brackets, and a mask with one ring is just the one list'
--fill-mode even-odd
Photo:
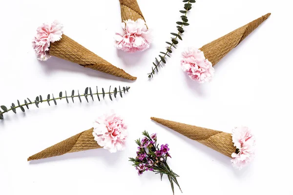
{"label": "eucalyptus sprig at top, slanting between two carnation cones", "polygon": [[157,73],[159,72],[159,69],[158,69],[159,65],[163,68],[161,63],[163,62],[164,64],[166,64],[166,56],[171,58],[170,54],[172,53],[173,48],[176,49],[175,45],[178,44],[178,39],[182,40],[181,35],[184,33],[183,26],[189,25],[187,13],[191,9],[191,6],[192,6],[191,3],[195,3],[195,0],[183,0],[183,2],[185,2],[184,10],[180,10],[180,13],[184,14],[181,16],[182,21],[176,22],[176,24],[179,25],[177,26],[178,33],[171,33],[171,35],[173,35],[174,37],[171,37],[171,42],[166,42],[168,45],[166,47],[165,52],[160,52],[161,54],[163,54],[163,56],[159,55],[160,60],[155,58],[156,62],[153,62],[153,67],[151,68],[151,73],[148,73],[148,78],[152,78],[153,75],[155,74],[155,71],[157,71]]}

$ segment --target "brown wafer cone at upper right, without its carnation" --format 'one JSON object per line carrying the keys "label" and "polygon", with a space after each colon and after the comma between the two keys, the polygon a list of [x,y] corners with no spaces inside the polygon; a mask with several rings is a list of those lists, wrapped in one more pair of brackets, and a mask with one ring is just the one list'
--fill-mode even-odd
{"label": "brown wafer cone at upper right, without its carnation", "polygon": [[268,13],[256,20],[253,20],[250,23],[230,32],[229,34],[204,45],[200,48],[200,50],[204,52],[206,59],[208,59],[212,63],[212,66],[214,66],[242,40],[251,34],[251,32],[263,21],[267,20],[270,15],[271,13]]}

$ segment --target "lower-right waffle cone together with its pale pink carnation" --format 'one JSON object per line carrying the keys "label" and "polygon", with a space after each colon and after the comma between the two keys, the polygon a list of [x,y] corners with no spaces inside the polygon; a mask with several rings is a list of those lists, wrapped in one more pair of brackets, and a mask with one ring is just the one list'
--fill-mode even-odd
{"label": "lower-right waffle cone together with its pale pink carnation", "polygon": [[231,163],[235,168],[241,169],[254,157],[255,138],[247,127],[235,128],[230,134],[162,118],[151,119],[232,158]]}

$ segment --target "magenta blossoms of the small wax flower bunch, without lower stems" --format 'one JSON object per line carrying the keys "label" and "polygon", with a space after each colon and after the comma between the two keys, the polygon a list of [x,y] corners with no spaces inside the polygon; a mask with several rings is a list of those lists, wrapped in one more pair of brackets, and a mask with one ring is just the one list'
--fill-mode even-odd
{"label": "magenta blossoms of the small wax flower bunch, without lower stems", "polygon": [[157,145],[157,134],[152,134],[144,137],[142,140],[137,140],[139,145],[136,152],[136,165],[138,175],[142,175],[145,171],[154,171],[161,163],[167,160],[169,155],[168,144]]}

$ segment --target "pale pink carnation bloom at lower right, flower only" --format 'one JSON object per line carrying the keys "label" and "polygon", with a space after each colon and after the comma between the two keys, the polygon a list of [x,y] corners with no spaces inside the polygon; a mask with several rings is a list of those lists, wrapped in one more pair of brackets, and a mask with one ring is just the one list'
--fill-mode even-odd
{"label": "pale pink carnation bloom at lower right, flower only", "polygon": [[254,159],[255,137],[248,127],[235,127],[232,130],[232,141],[237,153],[231,155],[233,167],[242,169]]}

